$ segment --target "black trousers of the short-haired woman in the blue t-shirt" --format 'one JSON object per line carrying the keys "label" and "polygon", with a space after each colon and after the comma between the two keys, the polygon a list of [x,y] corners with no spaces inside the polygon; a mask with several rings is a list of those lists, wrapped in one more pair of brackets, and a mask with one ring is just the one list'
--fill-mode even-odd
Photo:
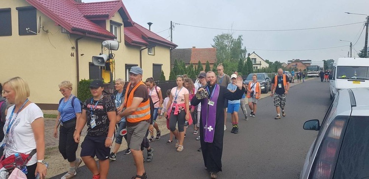
{"label": "black trousers of the short-haired woman in the blue t-shirt", "polygon": [[78,143],[74,142],[73,133],[76,125],[64,125],[59,129],[59,151],[68,162],[76,160]]}

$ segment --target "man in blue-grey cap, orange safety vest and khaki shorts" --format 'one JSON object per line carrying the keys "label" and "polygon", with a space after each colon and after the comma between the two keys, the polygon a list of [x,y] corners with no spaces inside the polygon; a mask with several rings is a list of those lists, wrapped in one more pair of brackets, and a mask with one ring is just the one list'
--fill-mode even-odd
{"label": "man in blue-grey cap, orange safety vest and khaki shorts", "polygon": [[131,149],[137,170],[137,174],[133,178],[146,179],[141,143],[148,128],[153,131],[154,127],[150,124],[149,92],[147,86],[142,82],[142,69],[138,66],[132,66],[129,71],[129,83],[125,96],[124,107],[126,109],[118,114],[118,117],[119,119],[123,116],[126,117],[127,144]]}

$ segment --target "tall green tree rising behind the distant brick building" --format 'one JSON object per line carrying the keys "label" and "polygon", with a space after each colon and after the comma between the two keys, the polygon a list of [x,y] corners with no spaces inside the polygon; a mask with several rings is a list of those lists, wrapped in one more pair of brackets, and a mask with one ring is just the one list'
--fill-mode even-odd
{"label": "tall green tree rising behind the distant brick building", "polygon": [[233,38],[232,33],[222,33],[213,38],[214,44],[212,47],[216,48],[216,58],[218,63],[224,61],[237,61],[245,59],[246,49],[243,49],[242,35]]}

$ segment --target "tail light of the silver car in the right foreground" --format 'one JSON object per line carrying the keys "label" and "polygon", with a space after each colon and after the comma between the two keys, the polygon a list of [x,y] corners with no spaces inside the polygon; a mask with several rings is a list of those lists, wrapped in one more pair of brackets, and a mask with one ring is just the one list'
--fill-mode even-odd
{"label": "tail light of the silver car in the right foreground", "polygon": [[346,122],[346,119],[335,119],[329,126],[315,157],[309,179],[332,179]]}

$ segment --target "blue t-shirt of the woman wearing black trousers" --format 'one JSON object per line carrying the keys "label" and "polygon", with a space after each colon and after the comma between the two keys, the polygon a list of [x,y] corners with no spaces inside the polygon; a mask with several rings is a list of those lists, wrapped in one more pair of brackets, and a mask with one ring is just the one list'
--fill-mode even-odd
{"label": "blue t-shirt of the woman wearing black trousers", "polygon": [[62,99],[62,102],[60,103],[58,107],[58,111],[61,114],[60,118],[62,122],[65,122],[67,120],[76,118],[76,113],[82,113],[82,107],[81,102],[78,98],[74,99],[74,109],[72,108],[72,98],[73,95],[69,97],[68,101],[64,102],[64,99]]}

